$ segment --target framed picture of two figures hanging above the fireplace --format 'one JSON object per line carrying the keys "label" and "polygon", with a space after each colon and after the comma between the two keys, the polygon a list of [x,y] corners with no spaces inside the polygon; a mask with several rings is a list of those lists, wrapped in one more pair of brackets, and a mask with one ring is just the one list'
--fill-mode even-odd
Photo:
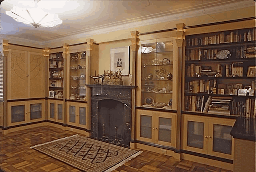
{"label": "framed picture of two figures hanging above the fireplace", "polygon": [[122,76],[130,74],[130,46],[110,49],[110,70],[121,70]]}

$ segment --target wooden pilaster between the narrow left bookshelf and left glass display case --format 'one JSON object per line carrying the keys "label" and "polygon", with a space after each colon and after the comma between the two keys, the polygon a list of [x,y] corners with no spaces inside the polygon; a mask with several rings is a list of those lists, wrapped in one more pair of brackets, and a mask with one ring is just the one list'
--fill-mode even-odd
{"label": "wooden pilaster between the narrow left bookshelf and left glass display case", "polygon": [[62,56],[63,56],[63,63],[64,63],[64,68],[63,68],[63,124],[67,124],[67,105],[65,103],[65,100],[67,98],[67,78],[69,78],[69,76],[67,76],[67,55],[69,53],[69,44],[62,44]]}

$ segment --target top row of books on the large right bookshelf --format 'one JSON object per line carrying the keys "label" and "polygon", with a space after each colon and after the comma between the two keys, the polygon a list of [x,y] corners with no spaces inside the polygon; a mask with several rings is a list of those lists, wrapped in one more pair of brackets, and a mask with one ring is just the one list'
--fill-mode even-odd
{"label": "top row of books on the large right bookshelf", "polygon": [[228,32],[228,34],[226,34],[226,32],[221,32],[219,34],[203,38],[189,38],[186,41],[186,46],[247,42],[254,40],[256,40],[256,30],[255,28],[252,28],[245,32],[238,32],[238,30],[236,30]]}

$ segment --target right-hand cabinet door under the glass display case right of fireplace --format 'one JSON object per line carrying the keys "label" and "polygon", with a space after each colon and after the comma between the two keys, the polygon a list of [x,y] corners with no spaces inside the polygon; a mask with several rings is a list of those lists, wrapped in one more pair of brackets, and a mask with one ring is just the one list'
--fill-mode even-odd
{"label": "right-hand cabinet door under the glass display case right of fireplace", "polygon": [[170,112],[156,112],[154,125],[156,144],[175,147],[175,117],[175,114]]}

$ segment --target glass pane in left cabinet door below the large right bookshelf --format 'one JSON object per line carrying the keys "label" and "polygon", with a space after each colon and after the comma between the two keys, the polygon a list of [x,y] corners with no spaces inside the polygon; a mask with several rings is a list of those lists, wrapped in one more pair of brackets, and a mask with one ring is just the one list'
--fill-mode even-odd
{"label": "glass pane in left cabinet door below the large right bookshelf", "polygon": [[187,146],[203,149],[204,123],[188,121]]}

